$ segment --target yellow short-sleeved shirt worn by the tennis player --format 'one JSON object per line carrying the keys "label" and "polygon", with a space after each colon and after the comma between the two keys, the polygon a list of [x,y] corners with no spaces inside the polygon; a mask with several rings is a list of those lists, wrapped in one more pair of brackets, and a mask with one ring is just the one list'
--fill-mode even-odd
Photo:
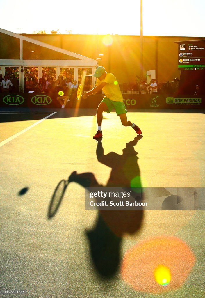
{"label": "yellow short-sleeved shirt worn by the tennis player", "polygon": [[113,100],[113,101],[123,102],[122,93],[119,89],[119,84],[117,83],[116,77],[113,74],[107,73],[105,79],[102,81],[97,79],[97,82],[95,85],[99,86],[102,82],[107,83],[102,88],[102,91],[105,93],[105,97],[108,97],[110,100]]}

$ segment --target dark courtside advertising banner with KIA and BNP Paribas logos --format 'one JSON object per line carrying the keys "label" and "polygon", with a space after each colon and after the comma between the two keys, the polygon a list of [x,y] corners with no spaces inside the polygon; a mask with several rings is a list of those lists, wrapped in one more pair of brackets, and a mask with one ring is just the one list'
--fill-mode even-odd
{"label": "dark courtside advertising banner with KIA and BNP Paribas logos", "polygon": [[[38,94],[38,93],[0,93],[0,107],[29,107],[29,108],[60,108],[57,101],[59,95]],[[95,94],[89,96],[86,100],[72,98],[66,108],[97,108],[102,101],[104,94]],[[123,94],[123,102],[128,110],[130,109],[204,109],[205,95],[180,95],[180,97],[171,97],[165,94]]]}

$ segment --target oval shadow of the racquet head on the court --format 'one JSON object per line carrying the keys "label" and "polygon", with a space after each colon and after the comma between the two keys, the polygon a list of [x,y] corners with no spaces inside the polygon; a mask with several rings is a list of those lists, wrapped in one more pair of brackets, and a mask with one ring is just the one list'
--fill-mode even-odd
{"label": "oval shadow of the racquet head on the court", "polygon": [[49,219],[52,218],[58,211],[68,184],[69,184],[69,181],[63,179],[56,186],[49,204],[49,209],[47,214]]}

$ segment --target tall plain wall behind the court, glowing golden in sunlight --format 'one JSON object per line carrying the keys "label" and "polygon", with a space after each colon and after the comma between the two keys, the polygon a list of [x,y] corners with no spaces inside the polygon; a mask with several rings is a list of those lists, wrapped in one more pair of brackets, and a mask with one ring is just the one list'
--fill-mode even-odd
{"label": "tall plain wall behind the court, glowing golden in sunlight", "polygon": [[[114,73],[119,83],[135,82],[139,75],[139,36],[111,35],[111,46],[103,44],[105,35],[74,34],[22,34],[38,41],[51,44],[68,51],[96,59],[104,54],[99,65]],[[175,41],[201,40],[195,37],[143,37],[144,75],[151,69],[156,70],[159,82],[173,81],[180,78],[178,71],[178,45]]]}

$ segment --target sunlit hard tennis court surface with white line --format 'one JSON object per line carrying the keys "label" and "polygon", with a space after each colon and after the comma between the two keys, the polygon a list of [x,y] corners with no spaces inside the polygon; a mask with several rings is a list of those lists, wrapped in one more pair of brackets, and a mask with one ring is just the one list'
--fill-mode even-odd
{"label": "sunlit hard tennis court surface with white line", "polygon": [[[89,183],[124,183],[122,156],[142,187],[204,188],[205,114],[132,110],[136,139],[116,113],[104,113],[100,142],[95,114],[0,109],[0,297],[205,297],[203,210],[85,210]],[[163,262],[167,286],[153,274]]]}

